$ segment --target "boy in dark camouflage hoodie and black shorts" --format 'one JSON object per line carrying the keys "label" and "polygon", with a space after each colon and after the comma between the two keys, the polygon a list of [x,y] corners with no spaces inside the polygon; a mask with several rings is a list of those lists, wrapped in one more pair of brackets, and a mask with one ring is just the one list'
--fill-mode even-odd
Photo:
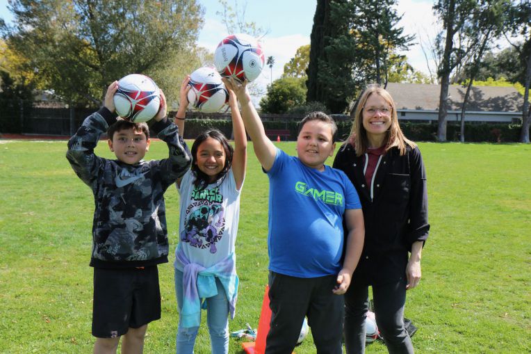
{"label": "boy in dark camouflage hoodie and black shorts", "polygon": [[[67,159],[94,193],[92,257],[95,353],[142,353],[147,323],[161,318],[157,264],[168,262],[163,193],[190,167],[191,156],[179,129],[165,118],[166,102],[152,129],[168,144],[168,159],[144,161],[149,150],[145,123],[118,119],[111,83],[105,104],[85,119],[68,142]],[[94,153],[106,130],[116,160]]]}

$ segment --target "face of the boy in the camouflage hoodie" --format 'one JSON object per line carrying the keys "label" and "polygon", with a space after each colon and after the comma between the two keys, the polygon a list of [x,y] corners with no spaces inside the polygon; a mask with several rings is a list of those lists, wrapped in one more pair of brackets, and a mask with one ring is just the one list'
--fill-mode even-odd
{"label": "face of the boy in the camouflage hoodie", "polygon": [[116,158],[123,163],[134,165],[142,160],[149,150],[150,140],[143,131],[122,129],[113,134],[113,140],[108,140],[109,148]]}

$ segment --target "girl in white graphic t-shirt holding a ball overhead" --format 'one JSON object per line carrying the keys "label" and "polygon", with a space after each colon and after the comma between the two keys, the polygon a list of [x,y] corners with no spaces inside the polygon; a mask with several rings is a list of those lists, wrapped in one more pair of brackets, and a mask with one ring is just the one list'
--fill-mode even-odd
{"label": "girl in white graphic t-shirt holding a ball overhead", "polygon": [[[184,131],[189,81],[187,77],[181,85],[175,117],[179,134]],[[204,131],[193,143],[192,167],[177,181],[181,197],[174,262],[178,354],[193,353],[202,308],[207,310],[212,353],[229,352],[228,316],[234,317],[238,293],[234,244],[247,163],[247,136],[230,90],[229,106],[234,148],[220,131]]]}

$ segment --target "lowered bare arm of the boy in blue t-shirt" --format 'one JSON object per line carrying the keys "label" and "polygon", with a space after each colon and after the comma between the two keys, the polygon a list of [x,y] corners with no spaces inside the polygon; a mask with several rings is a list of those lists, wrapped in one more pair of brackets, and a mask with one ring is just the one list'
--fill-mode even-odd
{"label": "lowered bare arm of the boy in blue t-shirt", "polygon": [[345,224],[348,230],[347,248],[345,250],[343,268],[337,276],[337,286],[332,290],[336,295],[341,295],[347,291],[352,279],[352,273],[354,273],[359,257],[361,257],[361,251],[363,251],[363,241],[365,240],[363,211],[361,209],[345,210]]}

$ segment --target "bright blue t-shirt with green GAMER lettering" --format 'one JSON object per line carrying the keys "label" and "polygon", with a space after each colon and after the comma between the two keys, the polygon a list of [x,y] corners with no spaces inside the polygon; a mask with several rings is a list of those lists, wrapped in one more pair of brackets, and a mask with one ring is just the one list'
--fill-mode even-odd
{"label": "bright blue t-shirt with green GAMER lettering", "polygon": [[269,269],[293,277],[322,277],[341,270],[343,214],[361,209],[358,193],[341,170],[320,172],[277,149],[267,172]]}

